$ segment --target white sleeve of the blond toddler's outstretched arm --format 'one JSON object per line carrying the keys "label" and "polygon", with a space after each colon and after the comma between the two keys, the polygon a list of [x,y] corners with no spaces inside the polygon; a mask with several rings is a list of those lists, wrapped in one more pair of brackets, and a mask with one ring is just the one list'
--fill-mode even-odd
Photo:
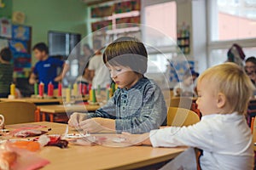
{"label": "white sleeve of the blond toddler's outstretched arm", "polygon": [[210,122],[198,122],[189,127],[166,127],[150,132],[150,141],[154,147],[191,146],[202,150],[212,150],[212,128]]}

